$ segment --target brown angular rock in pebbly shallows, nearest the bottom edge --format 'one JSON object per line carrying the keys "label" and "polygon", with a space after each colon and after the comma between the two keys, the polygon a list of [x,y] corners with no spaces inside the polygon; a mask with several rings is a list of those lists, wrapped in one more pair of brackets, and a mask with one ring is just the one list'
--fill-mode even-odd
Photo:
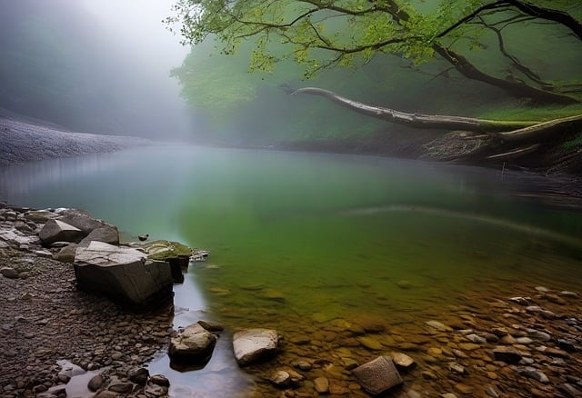
{"label": "brown angular rock in pebbly shallows, nearest the bottom edge", "polygon": [[392,359],[386,356],[378,356],[375,360],[356,367],[352,372],[364,390],[374,395],[385,393],[403,383]]}

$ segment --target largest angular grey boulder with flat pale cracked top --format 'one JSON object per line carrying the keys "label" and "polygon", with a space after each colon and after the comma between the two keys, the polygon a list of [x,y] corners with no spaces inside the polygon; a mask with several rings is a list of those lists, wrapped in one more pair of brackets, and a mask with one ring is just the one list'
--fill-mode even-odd
{"label": "largest angular grey boulder with flat pale cracked top", "polygon": [[159,306],[173,297],[169,264],[136,249],[96,241],[77,247],[75,276],[79,289],[135,308]]}

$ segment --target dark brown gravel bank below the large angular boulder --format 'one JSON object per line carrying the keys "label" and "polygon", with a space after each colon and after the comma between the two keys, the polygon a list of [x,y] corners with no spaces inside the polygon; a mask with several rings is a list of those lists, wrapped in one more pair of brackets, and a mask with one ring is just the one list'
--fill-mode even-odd
{"label": "dark brown gravel bank below the large angular boulder", "polygon": [[[59,361],[99,370],[104,385],[126,388],[130,374],[168,343],[173,307],[132,313],[77,290],[73,266],[55,261],[55,253],[40,245],[42,224],[25,218],[26,210],[0,207],[0,395],[89,393],[87,380],[66,384],[81,371],[67,373]],[[143,388],[122,396],[139,393]]]}

